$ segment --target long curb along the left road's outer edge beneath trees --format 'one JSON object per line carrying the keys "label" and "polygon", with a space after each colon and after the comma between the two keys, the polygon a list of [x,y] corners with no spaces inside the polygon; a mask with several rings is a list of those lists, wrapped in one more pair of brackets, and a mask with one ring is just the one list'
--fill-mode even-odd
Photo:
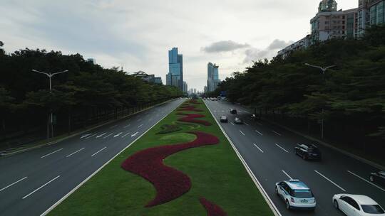
{"label": "long curb along the left road's outer edge beneath trees", "polygon": [[61,141],[64,141],[64,140],[66,140],[66,139],[70,139],[70,138],[72,138],[73,136],[78,136],[78,135],[80,135],[80,134],[87,133],[88,131],[92,131],[92,130],[94,130],[94,129],[98,129],[98,128],[101,127],[101,126],[105,126],[105,125],[107,125],[107,124],[111,124],[111,123],[113,123],[113,122],[120,121],[120,120],[125,119],[125,118],[127,118],[127,117],[133,116],[134,114],[138,114],[138,113],[144,112],[144,111],[146,111],[146,110],[148,110],[148,109],[152,109],[152,108],[154,108],[154,107],[158,107],[158,106],[161,105],[161,104],[165,104],[165,103],[171,102],[171,101],[173,101],[173,100],[174,100],[174,99],[169,99],[168,101],[162,102],[162,103],[160,103],[160,104],[156,104],[156,105],[154,105],[154,106],[152,106],[152,107],[148,107],[148,108],[142,109],[142,110],[140,110],[140,111],[138,111],[138,112],[134,112],[134,113],[132,113],[132,114],[125,115],[124,117],[120,117],[119,119],[113,119],[113,120],[107,121],[107,122],[105,122],[105,123],[103,123],[103,124],[98,124],[97,126],[93,126],[93,127],[89,128],[89,129],[85,129],[85,130],[83,130],[83,131],[79,131],[79,132],[77,132],[76,134],[71,134],[71,135],[69,135],[69,136],[63,137],[63,138],[58,139],[58,140],[55,140],[55,141],[49,141],[48,143],[45,143],[45,144],[40,144],[40,145],[37,145],[37,146],[32,146],[32,147],[30,147],[30,148],[24,148],[24,149],[21,149],[21,150],[19,150],[19,151],[14,151],[14,152],[11,152],[11,153],[3,153],[3,154],[0,153],[0,159],[1,159],[1,158],[6,158],[6,157],[9,157],[9,156],[13,156],[13,155],[18,154],[18,153],[23,153],[23,152],[26,152],[26,151],[31,151],[31,150],[34,150],[34,149],[36,149],[36,148],[41,148],[41,147],[43,147],[43,146],[50,146],[50,145],[53,145],[53,144],[57,144],[57,143],[59,143],[59,142],[61,142]]}

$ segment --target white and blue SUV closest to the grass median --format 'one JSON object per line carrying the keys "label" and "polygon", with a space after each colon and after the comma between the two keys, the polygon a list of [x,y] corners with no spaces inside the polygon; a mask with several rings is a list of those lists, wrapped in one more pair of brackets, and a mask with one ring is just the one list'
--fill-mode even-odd
{"label": "white and blue SUV closest to the grass median", "polygon": [[284,200],[287,210],[314,210],[316,207],[312,190],[297,179],[275,183],[275,193]]}

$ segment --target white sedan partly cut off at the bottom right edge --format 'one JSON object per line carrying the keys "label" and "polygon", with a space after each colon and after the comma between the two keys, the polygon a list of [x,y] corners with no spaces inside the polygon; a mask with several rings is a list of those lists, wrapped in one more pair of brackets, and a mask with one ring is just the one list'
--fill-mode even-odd
{"label": "white sedan partly cut off at the bottom right edge", "polygon": [[385,216],[384,209],[366,195],[336,194],[333,205],[347,216]]}

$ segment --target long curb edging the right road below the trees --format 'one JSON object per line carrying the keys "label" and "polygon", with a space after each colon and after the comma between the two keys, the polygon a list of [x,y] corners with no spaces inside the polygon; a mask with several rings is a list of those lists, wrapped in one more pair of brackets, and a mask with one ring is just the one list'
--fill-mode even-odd
{"label": "long curb edging the right road below the trees", "polygon": [[310,139],[310,140],[312,140],[312,141],[316,141],[316,142],[318,142],[319,144],[322,144],[323,146],[327,146],[328,148],[332,148],[332,149],[335,150],[335,151],[339,151],[339,152],[343,153],[343,154],[346,155],[346,156],[349,156],[349,157],[354,158],[354,159],[356,159],[356,160],[358,160],[358,161],[361,161],[362,163],[366,163],[366,164],[368,164],[368,165],[370,165],[370,166],[373,166],[374,168],[377,168],[377,169],[379,169],[379,170],[381,170],[381,171],[385,171],[385,166],[382,166],[382,165],[380,165],[380,164],[378,164],[378,163],[376,163],[376,162],[369,161],[368,159],[362,158],[361,156],[356,156],[354,153],[350,153],[350,152],[348,152],[348,151],[342,150],[341,148],[337,148],[336,146],[333,146],[332,144],[327,144],[327,143],[325,143],[324,141],[321,141],[321,140],[319,140],[319,139],[316,139],[316,138],[314,138],[314,137],[312,137],[312,136],[309,136],[309,135],[306,135],[306,134],[302,134],[302,133],[299,132],[299,131],[295,131],[294,129],[290,129],[289,127],[284,126],[284,125],[282,125],[282,124],[278,124],[278,123],[275,122],[275,121],[270,121],[270,120],[265,119],[265,118],[262,118],[262,119],[263,119],[264,121],[269,122],[270,124],[275,124],[275,125],[277,125],[277,126],[280,126],[280,127],[282,127],[283,129],[286,129],[287,131],[290,131],[290,132],[292,132],[292,133],[294,133],[294,134],[297,134],[297,135],[299,135],[299,136],[303,136],[303,137],[306,138],[306,139]]}

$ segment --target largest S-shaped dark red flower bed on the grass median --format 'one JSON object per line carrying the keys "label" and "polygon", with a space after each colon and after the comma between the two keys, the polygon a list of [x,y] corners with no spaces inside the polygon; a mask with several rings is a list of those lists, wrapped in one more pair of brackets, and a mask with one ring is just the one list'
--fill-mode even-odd
{"label": "largest S-shaped dark red flower bed on the grass median", "polygon": [[191,181],[188,175],[175,168],[165,166],[163,164],[165,158],[188,148],[219,143],[219,139],[211,134],[203,132],[190,132],[190,134],[195,134],[197,139],[185,144],[148,148],[133,154],[133,156],[130,156],[121,164],[125,171],[140,175],[150,183],[153,183],[157,194],[145,207],[152,207],[175,200],[187,193],[191,188]]}

